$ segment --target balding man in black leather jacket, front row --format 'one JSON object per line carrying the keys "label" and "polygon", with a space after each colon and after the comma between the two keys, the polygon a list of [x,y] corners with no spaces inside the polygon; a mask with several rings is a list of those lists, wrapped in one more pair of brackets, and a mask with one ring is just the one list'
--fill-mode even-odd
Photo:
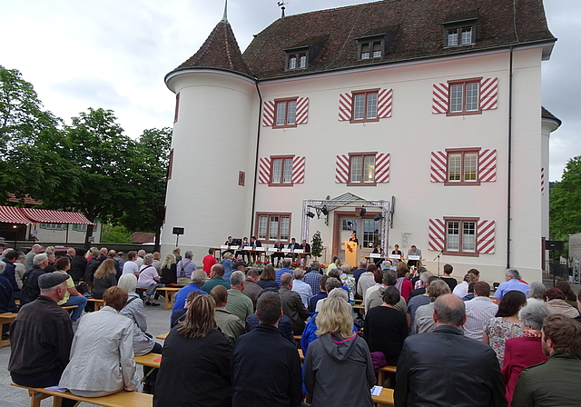
{"label": "balding man in black leather jacket, front row", "polygon": [[465,303],[454,294],[441,295],[433,318],[432,333],[409,336],[404,342],[396,373],[396,407],[506,406],[495,352],[462,333]]}

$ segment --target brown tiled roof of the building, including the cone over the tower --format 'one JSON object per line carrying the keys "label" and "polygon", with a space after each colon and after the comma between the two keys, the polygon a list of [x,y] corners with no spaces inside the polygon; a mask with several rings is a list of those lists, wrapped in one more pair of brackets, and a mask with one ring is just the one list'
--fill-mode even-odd
{"label": "brown tiled roof of the building, including the cone over the tower", "polygon": [[[215,67],[271,79],[317,72],[383,65],[422,58],[554,42],[542,0],[382,0],[363,5],[289,15],[256,35],[244,54],[226,21],[216,25],[200,50],[179,66]],[[444,48],[444,23],[477,17],[474,45]],[[382,58],[358,60],[357,38],[392,32]],[[285,49],[327,38],[304,70],[285,71]]]}

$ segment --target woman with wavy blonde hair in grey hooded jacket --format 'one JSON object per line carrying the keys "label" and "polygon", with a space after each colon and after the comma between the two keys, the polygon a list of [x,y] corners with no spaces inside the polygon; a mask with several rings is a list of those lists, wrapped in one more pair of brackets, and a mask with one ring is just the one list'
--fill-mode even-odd
{"label": "woman with wavy blonde hair in grey hooded jacket", "polygon": [[[310,406],[373,406],[373,364],[367,343],[353,333],[350,304],[327,299],[317,326],[319,339],[310,343],[304,362],[305,387],[313,396]],[[345,377],[350,380],[341,380]]]}

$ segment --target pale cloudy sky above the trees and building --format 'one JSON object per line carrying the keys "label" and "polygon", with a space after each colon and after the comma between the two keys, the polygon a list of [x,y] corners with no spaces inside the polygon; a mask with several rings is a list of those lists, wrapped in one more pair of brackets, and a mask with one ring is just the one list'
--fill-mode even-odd
{"label": "pale cloudy sky above the trees and building", "polygon": [[[281,16],[280,0],[230,0],[243,51]],[[286,14],[369,0],[287,0]],[[558,38],[542,64],[542,103],[563,124],[551,134],[549,181],[581,154],[581,1],[544,0]],[[222,19],[223,0],[0,0],[0,65],[34,85],[44,109],[70,124],[89,107],[111,109],[125,134],[171,127],[175,96],[165,74],[200,48]]]}

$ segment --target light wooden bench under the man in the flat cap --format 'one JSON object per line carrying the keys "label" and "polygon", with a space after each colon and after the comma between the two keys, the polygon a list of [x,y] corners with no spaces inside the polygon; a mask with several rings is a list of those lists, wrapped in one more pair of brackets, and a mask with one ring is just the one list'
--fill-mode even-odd
{"label": "light wooden bench under the man in the flat cap", "polygon": [[121,391],[103,397],[80,397],[75,396],[72,392],[56,392],[54,390],[19,386],[15,383],[12,383],[12,385],[28,390],[28,395],[31,397],[30,407],[40,407],[41,400],[47,399],[48,397],[54,397],[54,407],[60,406],[63,399],[103,405],[105,407],[151,407],[153,405],[153,395],[143,392]]}

